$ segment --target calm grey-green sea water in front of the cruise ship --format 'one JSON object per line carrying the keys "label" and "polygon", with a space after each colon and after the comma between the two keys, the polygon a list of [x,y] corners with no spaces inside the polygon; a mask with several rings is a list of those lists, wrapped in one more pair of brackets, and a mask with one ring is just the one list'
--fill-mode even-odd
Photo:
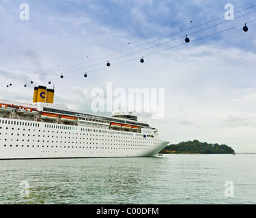
{"label": "calm grey-green sea water in front of the cruise ship", "polygon": [[0,161],[0,204],[256,204],[256,155]]}

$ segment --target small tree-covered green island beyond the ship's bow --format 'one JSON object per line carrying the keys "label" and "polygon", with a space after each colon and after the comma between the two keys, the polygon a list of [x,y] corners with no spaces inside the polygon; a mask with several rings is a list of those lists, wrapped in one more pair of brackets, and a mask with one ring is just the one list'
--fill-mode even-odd
{"label": "small tree-covered green island beyond the ship's bow", "polygon": [[225,144],[208,144],[198,140],[169,144],[162,151],[162,154],[234,154],[235,151]]}

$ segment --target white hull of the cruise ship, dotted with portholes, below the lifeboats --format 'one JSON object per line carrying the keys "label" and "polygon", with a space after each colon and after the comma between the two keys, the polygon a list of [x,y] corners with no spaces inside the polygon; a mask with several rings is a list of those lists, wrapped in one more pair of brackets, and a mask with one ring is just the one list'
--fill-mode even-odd
{"label": "white hull of the cruise ship, dotted with portholes, below the lifeboats", "polygon": [[104,126],[0,118],[0,159],[145,157],[168,142]]}

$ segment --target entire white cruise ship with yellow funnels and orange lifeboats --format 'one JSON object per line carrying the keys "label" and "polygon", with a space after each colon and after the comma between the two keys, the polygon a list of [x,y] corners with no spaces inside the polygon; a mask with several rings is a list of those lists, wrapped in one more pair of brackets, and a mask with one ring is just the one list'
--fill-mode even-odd
{"label": "entire white cruise ship with yellow funnels and orange lifeboats", "polygon": [[54,93],[38,86],[31,104],[0,99],[0,159],[148,157],[169,144],[132,112],[72,110]]}

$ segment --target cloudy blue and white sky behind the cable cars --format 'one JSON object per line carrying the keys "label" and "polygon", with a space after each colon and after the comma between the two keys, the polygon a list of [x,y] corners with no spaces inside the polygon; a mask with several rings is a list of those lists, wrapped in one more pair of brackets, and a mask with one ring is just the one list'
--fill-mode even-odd
{"label": "cloudy blue and white sky behind the cable cars", "polygon": [[0,19],[0,99],[54,86],[55,104],[135,110],[171,144],[256,153],[254,1],[1,0]]}

